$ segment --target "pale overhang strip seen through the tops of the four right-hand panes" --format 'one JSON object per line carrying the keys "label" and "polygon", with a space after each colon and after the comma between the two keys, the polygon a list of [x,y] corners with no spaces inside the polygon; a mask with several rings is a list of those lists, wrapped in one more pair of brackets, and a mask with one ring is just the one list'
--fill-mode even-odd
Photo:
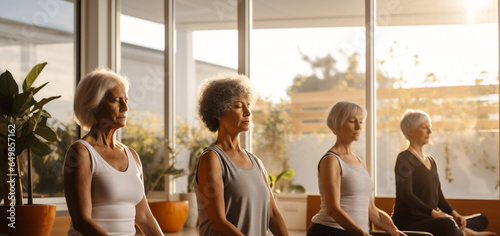
{"label": "pale overhang strip seen through the tops of the four right-hand panes", "polygon": [[[236,28],[242,0],[176,0],[177,28]],[[123,14],[163,23],[164,0],[122,0]],[[364,25],[363,0],[254,0],[254,28]],[[496,0],[378,0],[378,25],[496,23]]]}

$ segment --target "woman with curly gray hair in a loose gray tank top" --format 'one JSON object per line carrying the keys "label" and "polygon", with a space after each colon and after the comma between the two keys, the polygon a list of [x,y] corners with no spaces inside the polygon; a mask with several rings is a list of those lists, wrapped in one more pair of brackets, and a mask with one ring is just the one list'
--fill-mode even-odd
{"label": "woman with curly gray hair in a loose gray tank top", "polygon": [[253,91],[248,78],[220,74],[198,98],[201,120],[217,140],[201,154],[196,172],[200,235],[288,235],[262,162],[240,147],[250,128]]}

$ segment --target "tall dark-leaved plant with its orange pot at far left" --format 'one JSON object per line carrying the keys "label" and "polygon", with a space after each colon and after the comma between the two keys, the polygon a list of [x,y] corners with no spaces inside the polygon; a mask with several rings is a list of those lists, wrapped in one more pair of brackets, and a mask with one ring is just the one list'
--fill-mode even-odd
{"label": "tall dark-leaved plant with its orange pot at far left", "polygon": [[[52,152],[49,143],[58,141],[57,134],[47,126],[51,116],[43,106],[61,96],[40,101],[34,98],[48,84],[33,87],[45,65],[41,63],[31,69],[23,81],[22,92],[9,71],[0,75],[0,153],[4,173],[0,217],[8,221],[0,230],[12,235],[49,235],[55,218],[55,205],[33,205],[31,186],[31,153],[45,156]],[[18,160],[23,153],[28,162],[28,205],[23,204]]]}

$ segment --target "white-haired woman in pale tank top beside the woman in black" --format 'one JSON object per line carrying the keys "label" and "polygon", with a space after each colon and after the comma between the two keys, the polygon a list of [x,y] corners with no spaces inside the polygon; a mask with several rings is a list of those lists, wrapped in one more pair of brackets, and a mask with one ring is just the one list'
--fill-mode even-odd
{"label": "white-haired woman in pale tank top beside the woman in black", "polygon": [[[373,182],[365,163],[351,150],[366,118],[364,107],[338,102],[326,119],[337,140],[318,164],[321,209],[307,231],[314,235],[428,235],[403,233],[373,199]],[[369,221],[387,233],[369,232]]]}

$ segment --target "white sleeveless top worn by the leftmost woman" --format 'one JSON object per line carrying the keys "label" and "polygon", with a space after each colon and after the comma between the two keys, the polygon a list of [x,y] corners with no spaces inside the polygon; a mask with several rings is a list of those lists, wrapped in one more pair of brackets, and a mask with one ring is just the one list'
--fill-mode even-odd
{"label": "white sleeveless top worn by the leftmost woman", "polygon": [[[127,170],[113,168],[86,141],[80,139],[92,161],[92,220],[109,235],[135,235],[135,206],[142,200],[144,186],[137,162],[125,146]],[[140,162],[139,162],[140,164]],[[70,236],[80,236],[71,223]]]}

